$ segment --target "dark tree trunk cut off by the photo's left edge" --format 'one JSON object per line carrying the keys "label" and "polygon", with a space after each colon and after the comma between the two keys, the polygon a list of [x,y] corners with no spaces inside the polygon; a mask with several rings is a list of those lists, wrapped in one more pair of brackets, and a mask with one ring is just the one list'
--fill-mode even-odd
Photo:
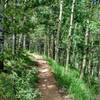
{"label": "dark tree trunk cut off by the photo's left edge", "polygon": [[4,34],[3,34],[3,2],[0,1],[0,70],[4,69],[3,51],[4,51]]}

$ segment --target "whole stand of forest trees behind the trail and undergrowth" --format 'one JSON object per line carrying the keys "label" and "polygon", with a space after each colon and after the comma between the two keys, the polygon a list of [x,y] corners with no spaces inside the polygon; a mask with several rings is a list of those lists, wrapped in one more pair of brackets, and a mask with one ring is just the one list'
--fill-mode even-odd
{"label": "whole stand of forest trees behind the trail and undergrowth", "polygon": [[89,0],[8,0],[4,33],[0,26],[0,41],[4,41],[0,42],[1,54],[4,43],[5,52],[11,55],[24,50],[39,52],[52,57],[66,70],[78,70],[82,78],[98,77],[99,8],[99,2]]}

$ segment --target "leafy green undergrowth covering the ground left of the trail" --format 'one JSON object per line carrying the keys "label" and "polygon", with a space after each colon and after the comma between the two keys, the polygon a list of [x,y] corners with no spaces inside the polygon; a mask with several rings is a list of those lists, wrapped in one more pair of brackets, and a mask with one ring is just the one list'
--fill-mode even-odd
{"label": "leafy green undergrowth covering the ground left of the trail", "polygon": [[0,100],[38,100],[37,68],[29,55],[5,53],[5,70],[0,73]]}

